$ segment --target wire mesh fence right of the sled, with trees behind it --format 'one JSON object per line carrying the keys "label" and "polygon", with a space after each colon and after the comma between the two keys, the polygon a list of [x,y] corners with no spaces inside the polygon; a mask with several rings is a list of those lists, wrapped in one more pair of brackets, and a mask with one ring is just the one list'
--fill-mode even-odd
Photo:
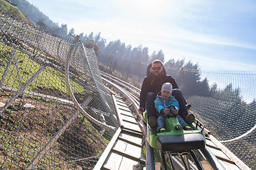
{"label": "wire mesh fence right of the sled, with trees behind it", "polygon": [[[182,81],[181,91],[192,105],[190,112],[211,135],[247,166],[256,169],[256,71],[167,68],[166,72]],[[191,82],[191,77],[198,73],[201,80]]]}

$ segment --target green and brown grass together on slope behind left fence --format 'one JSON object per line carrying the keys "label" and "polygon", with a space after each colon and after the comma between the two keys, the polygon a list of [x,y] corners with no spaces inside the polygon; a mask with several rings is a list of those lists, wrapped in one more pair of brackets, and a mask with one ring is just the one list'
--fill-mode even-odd
{"label": "green and brown grass together on slope behind left fence", "polygon": [[[11,59],[13,49],[0,42],[0,75],[4,74],[6,66]],[[21,77],[21,85],[23,86],[28,79],[41,67],[31,59],[30,56],[16,50],[18,60],[19,75]],[[9,72],[4,81],[4,86],[11,86],[16,89],[20,88],[18,80],[18,72],[16,65],[11,62]],[[1,79],[1,77],[0,77]],[[73,92],[76,94],[86,95],[82,86],[70,81]],[[26,91],[35,91],[50,96],[58,96],[68,98],[68,91],[65,84],[65,75],[56,71],[52,67],[46,69],[26,88]],[[0,101],[8,101],[9,96],[14,93],[4,91],[1,92]],[[62,125],[70,118],[75,111],[73,105],[63,104],[60,101],[41,98],[39,96],[31,96],[24,94],[26,103],[31,103],[36,108],[23,108],[24,101],[16,98],[14,103],[9,106],[4,113],[1,114],[1,146],[0,162],[5,169],[22,169],[33,157],[36,156],[44,145],[50,140],[55,133],[60,130]],[[71,129],[65,131],[59,140],[58,145],[51,149],[56,154],[70,154],[71,157],[85,157],[83,149],[90,150],[90,154],[97,155],[102,153],[107,144],[110,142],[113,132],[105,132],[102,136],[100,132],[93,126],[84,115],[80,114],[78,119],[70,126]],[[70,131],[71,130],[71,131]],[[75,132],[75,133],[74,133]],[[79,135],[78,135],[79,134]],[[107,135],[106,135],[107,134]],[[79,143],[82,148],[75,146]],[[10,152],[11,149],[16,151]],[[67,152],[68,151],[68,152]],[[28,154],[35,153],[35,154]],[[87,153],[87,152],[86,152]],[[4,163],[4,158],[9,155],[9,160]],[[65,162],[68,158],[60,158],[59,162]],[[44,159],[38,166],[44,164],[53,164],[53,159]],[[55,161],[54,161],[55,162]],[[82,166],[82,165],[81,165]],[[85,165],[84,165],[85,166]],[[65,168],[64,166],[61,166]],[[62,169],[60,168],[60,169]],[[56,167],[58,169],[58,167]]]}

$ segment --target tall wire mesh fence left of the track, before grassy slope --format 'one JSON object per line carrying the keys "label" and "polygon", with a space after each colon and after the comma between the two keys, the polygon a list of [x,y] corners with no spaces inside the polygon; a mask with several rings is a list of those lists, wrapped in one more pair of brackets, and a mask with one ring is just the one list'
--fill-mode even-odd
{"label": "tall wire mesh fence left of the track, before grassy slope", "polygon": [[0,16],[1,169],[92,169],[116,129],[93,50]]}

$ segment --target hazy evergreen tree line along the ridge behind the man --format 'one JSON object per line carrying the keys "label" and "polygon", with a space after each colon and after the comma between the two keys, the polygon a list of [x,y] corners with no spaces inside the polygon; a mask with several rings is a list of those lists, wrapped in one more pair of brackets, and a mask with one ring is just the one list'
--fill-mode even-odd
{"label": "hazy evergreen tree line along the ridge behind the man", "polygon": [[[17,4],[18,8],[26,13],[31,18],[36,26],[42,28],[51,35],[58,35],[64,38],[73,38],[70,35],[75,34],[75,29],[68,30],[67,24],[58,26],[58,23],[48,18],[44,13],[38,10],[36,6],[29,4],[26,0],[11,0]],[[213,91],[217,93],[217,84],[209,86],[208,79],[201,79],[200,67],[198,64],[193,64],[192,61],[185,62],[184,59],[174,60],[170,59],[166,61],[163,50],[158,52],[153,51],[149,54],[149,48],[139,45],[138,47],[132,47],[132,45],[126,45],[121,40],[114,40],[107,43],[105,38],[102,38],[101,33],[96,35],[92,32],[89,35],[80,33],[80,40],[85,42],[85,47],[94,48],[98,57],[98,61],[105,66],[109,67],[110,73],[117,71],[130,77],[134,81],[142,82],[146,76],[146,68],[149,63],[159,59],[164,62],[166,74],[171,75],[176,79],[177,84],[180,84],[180,89],[186,96],[213,96]],[[231,84],[232,86],[232,84]],[[227,86],[228,88],[228,86]],[[239,89],[232,89],[234,93],[240,96]],[[220,98],[218,96],[218,98]],[[236,98],[237,99],[237,98]]]}

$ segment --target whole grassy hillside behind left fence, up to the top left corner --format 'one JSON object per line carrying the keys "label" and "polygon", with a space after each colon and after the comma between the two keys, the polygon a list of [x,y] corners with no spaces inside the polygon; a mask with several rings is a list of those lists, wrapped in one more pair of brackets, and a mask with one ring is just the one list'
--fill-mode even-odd
{"label": "whole grassy hillside behind left fence, up to the top left corner", "polygon": [[[1,6],[4,6],[7,11],[21,14],[15,6],[10,6],[6,1],[1,1]],[[28,35],[30,36],[28,39],[34,40],[33,33],[36,32],[36,28],[18,27],[18,22],[14,19],[9,15],[1,15],[1,21],[11,23],[10,26],[6,26],[4,22],[1,22],[1,28],[10,32],[14,28],[19,35]],[[22,24],[22,22],[18,24]],[[3,90],[0,91],[1,108],[11,101],[10,98],[41,67],[41,63],[35,60],[35,56],[48,56],[40,49],[33,50],[32,46],[26,45],[26,42],[22,40],[17,41],[15,38],[10,38],[11,34],[8,31],[0,34],[0,38],[3,40],[0,42],[0,75],[3,82],[3,86],[1,86]],[[43,38],[40,42],[47,44]],[[65,48],[61,49],[66,50]],[[8,69],[6,69],[7,67]],[[5,72],[6,77],[3,80]],[[23,94],[17,96],[10,106],[1,110],[3,111],[0,116],[0,164],[2,169],[24,169],[74,114],[76,108],[73,104],[53,99],[55,96],[55,98],[65,98],[66,101],[70,101],[64,77],[65,75],[59,70],[47,66],[23,91]],[[74,88],[75,96],[84,101],[85,88],[74,81],[70,81],[70,84]],[[95,99],[91,103],[95,103]],[[87,113],[96,114],[90,108],[85,109]],[[90,168],[97,162],[98,155],[105,149],[111,137],[112,132],[101,130],[97,125],[88,121],[85,114],[80,113],[63,132],[63,135],[58,137],[48,153],[51,156],[44,157],[38,166],[46,164],[55,169],[82,169],[83,166]],[[86,157],[93,158],[73,164],[55,165],[58,162],[72,162],[74,158]]]}

